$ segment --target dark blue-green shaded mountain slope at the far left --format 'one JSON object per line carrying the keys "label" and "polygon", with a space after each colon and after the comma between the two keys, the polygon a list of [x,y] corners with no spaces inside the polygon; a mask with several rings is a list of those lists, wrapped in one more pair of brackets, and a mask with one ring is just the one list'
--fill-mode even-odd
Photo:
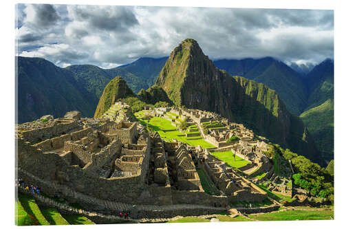
{"label": "dark blue-green shaded mountain slope at the far left", "polygon": [[18,120],[29,122],[48,113],[56,117],[67,111],[92,116],[97,99],[75,80],[72,72],[43,58],[16,57]]}

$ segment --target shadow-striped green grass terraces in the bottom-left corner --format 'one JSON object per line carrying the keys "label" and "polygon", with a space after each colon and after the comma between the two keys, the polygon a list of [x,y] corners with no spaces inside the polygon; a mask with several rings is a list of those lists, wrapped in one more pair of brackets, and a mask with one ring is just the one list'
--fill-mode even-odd
{"label": "shadow-striped green grass terraces in the bottom-left corner", "polygon": [[83,215],[63,215],[56,208],[40,206],[33,197],[22,193],[18,193],[16,201],[15,223],[17,226],[94,224]]}

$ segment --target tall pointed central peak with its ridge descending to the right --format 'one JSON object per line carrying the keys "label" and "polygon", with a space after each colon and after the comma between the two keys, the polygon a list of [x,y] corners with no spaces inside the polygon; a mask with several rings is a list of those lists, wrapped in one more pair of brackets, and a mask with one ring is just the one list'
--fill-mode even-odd
{"label": "tall pointed central peak with its ridge descending to the right", "polygon": [[321,162],[302,120],[289,113],[275,90],[217,69],[193,39],[175,47],[155,85],[162,87],[175,105],[214,111]]}

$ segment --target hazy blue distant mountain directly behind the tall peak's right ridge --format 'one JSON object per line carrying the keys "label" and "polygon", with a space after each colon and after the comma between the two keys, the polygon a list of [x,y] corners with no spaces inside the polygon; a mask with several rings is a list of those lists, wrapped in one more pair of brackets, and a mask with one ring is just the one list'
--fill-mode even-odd
{"label": "hazy blue distant mountain directly behind the tall peak's right ridge", "polygon": [[288,111],[295,115],[302,113],[307,106],[308,95],[301,76],[275,58],[217,60],[214,61],[214,64],[231,75],[244,76],[275,89],[286,104]]}

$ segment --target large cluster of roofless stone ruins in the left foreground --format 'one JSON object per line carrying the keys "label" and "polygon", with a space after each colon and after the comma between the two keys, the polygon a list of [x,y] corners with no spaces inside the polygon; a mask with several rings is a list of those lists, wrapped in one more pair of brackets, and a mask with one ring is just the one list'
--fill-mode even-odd
{"label": "large cluster of roofless stone ruins in the left foreground", "polygon": [[[19,177],[39,185],[52,197],[73,199],[65,194],[70,189],[83,196],[127,204],[206,206],[267,197],[228,170],[224,162],[197,153],[197,147],[165,142],[137,122],[80,118],[80,113],[73,111],[45,123],[17,125],[16,168]],[[221,190],[220,195],[204,192],[197,173],[200,163]],[[56,188],[56,184],[65,188]],[[104,208],[84,200],[89,208]]]}

